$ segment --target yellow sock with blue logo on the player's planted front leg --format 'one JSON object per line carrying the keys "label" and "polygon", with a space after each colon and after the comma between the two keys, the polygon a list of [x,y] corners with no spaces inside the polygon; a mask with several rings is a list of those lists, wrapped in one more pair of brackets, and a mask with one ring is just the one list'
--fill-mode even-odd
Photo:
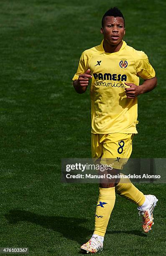
{"label": "yellow sock with blue logo on the player's planted front leg", "polygon": [[99,188],[99,198],[95,214],[94,234],[105,236],[108,221],[115,205],[115,187]]}

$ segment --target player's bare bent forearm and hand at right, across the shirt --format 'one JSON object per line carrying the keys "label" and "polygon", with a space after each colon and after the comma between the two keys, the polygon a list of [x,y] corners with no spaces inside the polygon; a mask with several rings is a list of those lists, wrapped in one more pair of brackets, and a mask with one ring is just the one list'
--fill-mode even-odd
{"label": "player's bare bent forearm and hand at right, across the shirt", "polygon": [[150,92],[151,90],[153,90],[157,86],[157,78],[153,77],[151,79],[144,80],[143,84],[141,84],[140,86],[126,82],[125,84],[130,86],[130,88],[125,88],[127,98],[133,99],[142,93]]}

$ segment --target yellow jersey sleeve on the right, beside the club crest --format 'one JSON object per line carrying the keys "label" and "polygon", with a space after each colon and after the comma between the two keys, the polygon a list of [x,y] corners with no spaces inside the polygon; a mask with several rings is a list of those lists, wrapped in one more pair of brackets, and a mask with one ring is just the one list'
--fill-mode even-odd
{"label": "yellow jersey sleeve on the right, beside the club crest", "polygon": [[148,60],[148,56],[142,51],[140,59],[136,60],[136,73],[144,80],[155,77],[155,70]]}

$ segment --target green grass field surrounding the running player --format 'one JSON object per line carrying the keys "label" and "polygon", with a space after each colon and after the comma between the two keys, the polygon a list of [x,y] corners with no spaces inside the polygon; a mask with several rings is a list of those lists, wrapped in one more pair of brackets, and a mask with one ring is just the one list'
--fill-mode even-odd
{"label": "green grass field surrounding the running player", "polygon": [[[61,158],[91,157],[89,93],[78,95],[72,77],[82,51],[100,44],[102,15],[115,4],[125,41],[146,52],[158,77],[138,99],[132,157],[166,156],[164,0],[1,0],[0,247],[76,256],[92,235],[98,185],[62,184]],[[99,255],[166,255],[166,185],[138,188],[159,199],[152,232],[141,233],[135,205],[117,196]]]}

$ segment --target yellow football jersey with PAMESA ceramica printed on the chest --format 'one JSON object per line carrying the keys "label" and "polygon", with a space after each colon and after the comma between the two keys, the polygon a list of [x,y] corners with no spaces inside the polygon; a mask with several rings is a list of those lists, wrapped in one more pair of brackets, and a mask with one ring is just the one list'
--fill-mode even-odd
{"label": "yellow football jersey with PAMESA ceramica printed on the chest", "polygon": [[147,55],[125,41],[119,51],[106,53],[102,41],[82,53],[73,80],[87,69],[92,74],[92,133],[137,133],[137,98],[127,99],[125,82],[139,85],[139,77],[145,80],[155,77]]}

